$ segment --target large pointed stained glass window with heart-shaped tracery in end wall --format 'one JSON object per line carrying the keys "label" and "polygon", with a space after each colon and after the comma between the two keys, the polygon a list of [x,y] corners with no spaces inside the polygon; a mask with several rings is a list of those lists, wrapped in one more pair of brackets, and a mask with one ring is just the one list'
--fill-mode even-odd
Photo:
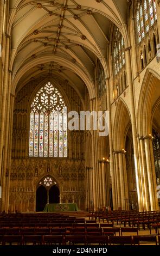
{"label": "large pointed stained glass window with heart-shaped tracery in end wall", "polygon": [[67,157],[67,112],[59,91],[48,82],[30,109],[29,156]]}

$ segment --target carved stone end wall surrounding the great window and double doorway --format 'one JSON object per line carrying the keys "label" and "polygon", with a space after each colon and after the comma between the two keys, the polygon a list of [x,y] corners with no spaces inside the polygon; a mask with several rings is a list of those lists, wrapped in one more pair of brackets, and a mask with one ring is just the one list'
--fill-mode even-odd
{"label": "carved stone end wall surrounding the great window and double doorway", "polygon": [[[83,131],[68,131],[68,158],[29,157],[29,101],[40,80],[30,81],[17,93],[14,106],[9,211],[35,211],[39,181],[49,174],[60,188],[62,202],[73,198],[86,209],[85,136]],[[82,103],[67,81],[60,84],[72,111],[80,113]]]}

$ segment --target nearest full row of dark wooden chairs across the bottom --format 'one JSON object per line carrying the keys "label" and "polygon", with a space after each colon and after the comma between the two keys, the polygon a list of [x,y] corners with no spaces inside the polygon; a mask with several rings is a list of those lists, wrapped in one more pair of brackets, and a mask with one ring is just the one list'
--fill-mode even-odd
{"label": "nearest full row of dark wooden chairs across the bottom", "polygon": [[63,236],[63,235],[3,235],[2,245],[160,245],[156,236]]}

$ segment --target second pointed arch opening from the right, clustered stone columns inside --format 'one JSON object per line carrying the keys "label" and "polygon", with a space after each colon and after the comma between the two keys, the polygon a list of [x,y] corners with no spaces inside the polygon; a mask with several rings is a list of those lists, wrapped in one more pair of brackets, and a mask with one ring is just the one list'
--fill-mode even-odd
{"label": "second pointed arch opening from the right, clustered stone columns inside", "polygon": [[129,109],[121,100],[117,105],[114,124],[114,177],[112,177],[112,180],[114,180],[112,186],[114,186],[116,192],[114,200],[117,209],[137,209],[138,199],[131,118]]}

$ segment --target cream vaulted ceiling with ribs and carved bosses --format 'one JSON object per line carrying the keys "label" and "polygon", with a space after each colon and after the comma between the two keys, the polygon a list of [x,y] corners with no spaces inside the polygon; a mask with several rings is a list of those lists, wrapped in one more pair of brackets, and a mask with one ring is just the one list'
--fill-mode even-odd
{"label": "cream vaulted ceiling with ribs and carved bosses", "polygon": [[110,28],[127,23],[127,0],[10,2],[12,83],[19,90],[31,78],[68,80],[81,96],[94,96],[97,57],[107,70]]}

